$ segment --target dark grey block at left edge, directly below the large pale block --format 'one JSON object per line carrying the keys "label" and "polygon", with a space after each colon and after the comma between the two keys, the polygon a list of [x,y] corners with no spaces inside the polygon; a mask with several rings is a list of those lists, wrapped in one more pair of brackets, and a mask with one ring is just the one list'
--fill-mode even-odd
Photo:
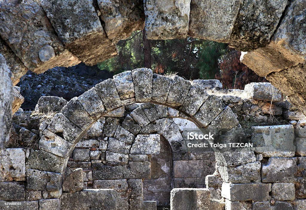
{"label": "dark grey block at left edge, directly below the large pale block", "polygon": [[18,182],[0,182],[0,199],[7,201],[24,201],[24,184]]}

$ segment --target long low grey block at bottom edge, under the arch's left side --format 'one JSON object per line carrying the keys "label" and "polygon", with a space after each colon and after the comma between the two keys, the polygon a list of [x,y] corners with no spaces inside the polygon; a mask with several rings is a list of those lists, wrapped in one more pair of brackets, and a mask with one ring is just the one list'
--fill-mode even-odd
{"label": "long low grey block at bottom edge, under the arch's left side", "polygon": [[84,189],[75,193],[63,193],[61,210],[116,210],[116,197],[114,189]]}

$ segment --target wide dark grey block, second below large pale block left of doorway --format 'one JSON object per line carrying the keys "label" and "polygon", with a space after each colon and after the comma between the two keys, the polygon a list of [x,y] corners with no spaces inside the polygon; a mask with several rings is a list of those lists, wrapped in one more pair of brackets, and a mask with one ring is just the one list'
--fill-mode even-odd
{"label": "wide dark grey block, second below large pale block left of doorway", "polygon": [[150,162],[129,161],[128,167],[123,170],[123,178],[126,179],[149,179],[150,177]]}

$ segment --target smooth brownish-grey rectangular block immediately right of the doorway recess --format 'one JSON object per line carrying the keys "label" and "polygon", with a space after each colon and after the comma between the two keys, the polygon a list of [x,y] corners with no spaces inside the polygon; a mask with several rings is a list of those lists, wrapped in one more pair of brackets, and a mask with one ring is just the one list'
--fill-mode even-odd
{"label": "smooth brownish-grey rectangular block immediately right of the doorway recess", "polygon": [[204,177],[203,160],[173,161],[174,177]]}

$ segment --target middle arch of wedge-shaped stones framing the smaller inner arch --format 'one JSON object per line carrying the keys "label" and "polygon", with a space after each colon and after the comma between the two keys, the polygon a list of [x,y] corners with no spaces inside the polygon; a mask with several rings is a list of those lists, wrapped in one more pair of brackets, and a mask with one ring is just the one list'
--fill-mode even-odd
{"label": "middle arch of wedge-shaped stones framing the smaller inner arch", "polygon": [[[60,189],[68,158],[86,130],[111,111],[136,102],[151,102],[157,104],[157,107],[166,106],[179,110],[181,112],[179,117],[187,118],[201,130],[209,130],[218,136],[218,140],[215,141],[223,143],[245,141],[243,130],[230,107],[225,107],[215,96],[208,96],[205,89],[198,84],[192,84],[178,76],[169,78],[153,74],[151,69],[134,69],[115,75],[114,79],[103,81],[78,98],[71,99],[62,112],[54,116],[43,130],[39,150],[30,152],[27,162],[27,181],[37,181],[38,176],[35,176],[37,173],[46,173],[52,177],[50,182],[53,185],[50,186],[50,190],[52,187]],[[146,115],[143,110],[136,109],[133,120],[144,115],[153,119],[150,107],[146,108],[151,116]],[[124,128],[120,129],[123,129],[123,132],[127,131]],[[129,141],[124,133],[121,138]],[[233,156],[224,151],[224,149],[216,151],[218,164],[221,166],[237,164],[235,161],[239,160],[233,161],[231,159]],[[254,152],[244,156],[255,158]],[[240,158],[244,159],[242,156]]]}

